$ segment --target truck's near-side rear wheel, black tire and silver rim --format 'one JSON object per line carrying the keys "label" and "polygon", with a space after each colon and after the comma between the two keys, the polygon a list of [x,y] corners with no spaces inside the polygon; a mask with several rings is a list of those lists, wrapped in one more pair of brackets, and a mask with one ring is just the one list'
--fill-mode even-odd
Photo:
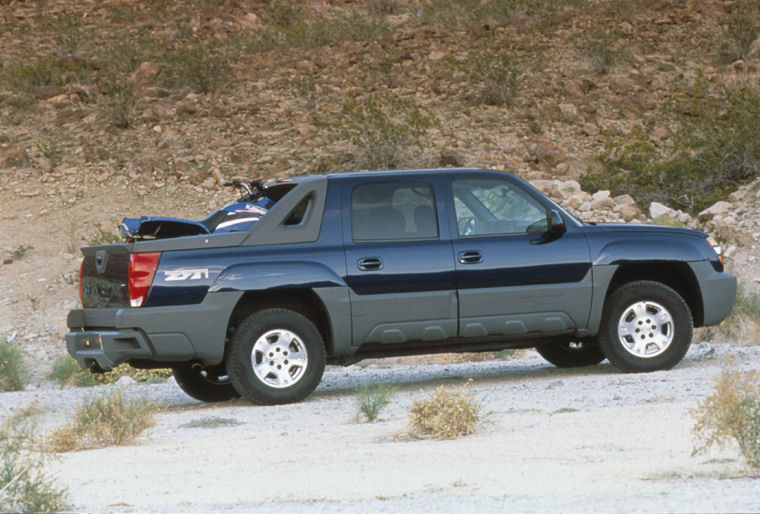
{"label": "truck's near-side rear wheel, black tire and silver rim", "polygon": [[259,405],[306,398],[322,380],[325,346],[317,327],[288,309],[248,316],[235,330],[227,369],[240,395]]}

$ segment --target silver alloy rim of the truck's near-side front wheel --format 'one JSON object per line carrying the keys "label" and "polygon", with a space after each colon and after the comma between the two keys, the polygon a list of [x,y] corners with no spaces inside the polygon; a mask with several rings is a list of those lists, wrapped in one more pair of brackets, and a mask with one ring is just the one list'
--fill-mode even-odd
{"label": "silver alloy rim of the truck's near-side front wheel", "polygon": [[641,301],[628,306],[618,321],[618,338],[631,355],[649,359],[673,342],[673,317],[659,303]]}

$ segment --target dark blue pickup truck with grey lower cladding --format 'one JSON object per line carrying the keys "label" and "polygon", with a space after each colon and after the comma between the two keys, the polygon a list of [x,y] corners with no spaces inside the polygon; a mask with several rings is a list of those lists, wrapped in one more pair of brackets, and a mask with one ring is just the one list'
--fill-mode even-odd
{"label": "dark blue pickup truck with grey lower cladding", "polygon": [[707,235],[583,223],[509,173],[260,189],[241,201],[265,195],[266,210],[239,230],[153,218],[128,242],[84,248],[69,353],[94,372],[171,367],[203,401],[277,404],[311,393],[327,363],[391,355],[535,347],[557,366],[667,369],[734,304]]}

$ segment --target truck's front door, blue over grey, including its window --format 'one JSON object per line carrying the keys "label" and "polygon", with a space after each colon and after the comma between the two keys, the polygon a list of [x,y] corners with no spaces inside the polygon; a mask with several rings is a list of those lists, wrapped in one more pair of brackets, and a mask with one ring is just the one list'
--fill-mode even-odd
{"label": "truck's front door, blue over grey, including its window", "polygon": [[507,177],[451,181],[450,212],[462,337],[557,334],[584,328],[591,261],[583,233],[548,237],[549,208]]}

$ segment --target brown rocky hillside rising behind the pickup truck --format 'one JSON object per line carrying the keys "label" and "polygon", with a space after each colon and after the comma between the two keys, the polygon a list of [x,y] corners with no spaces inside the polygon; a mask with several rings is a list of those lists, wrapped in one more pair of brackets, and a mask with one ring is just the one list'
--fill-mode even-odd
{"label": "brown rocky hillside rising behind the pickup truck", "polygon": [[219,190],[232,176],[505,169],[584,219],[710,230],[737,269],[760,276],[757,182],[702,214],[580,186],[631,134],[669,148],[694,99],[757,87],[753,9],[728,0],[2,2],[0,337],[49,363],[77,302],[77,247],[107,241],[125,215],[203,216],[234,197]]}

